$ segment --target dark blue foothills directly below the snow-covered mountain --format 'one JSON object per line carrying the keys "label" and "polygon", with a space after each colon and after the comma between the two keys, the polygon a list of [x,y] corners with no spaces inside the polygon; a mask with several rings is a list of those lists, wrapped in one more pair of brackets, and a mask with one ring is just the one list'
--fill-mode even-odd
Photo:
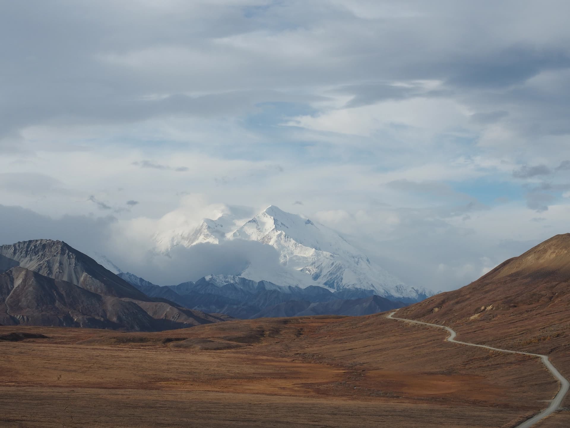
{"label": "dark blue foothills directly below the snow-covered mountain", "polygon": [[203,312],[227,314],[234,318],[289,317],[300,314],[368,315],[401,308],[393,302],[374,296],[370,291],[351,290],[355,298],[346,298],[347,290],[332,292],[320,286],[300,288],[279,286],[268,281],[253,281],[237,276],[207,276],[196,282],[158,286],[132,273],[119,276],[149,296],[169,300]]}

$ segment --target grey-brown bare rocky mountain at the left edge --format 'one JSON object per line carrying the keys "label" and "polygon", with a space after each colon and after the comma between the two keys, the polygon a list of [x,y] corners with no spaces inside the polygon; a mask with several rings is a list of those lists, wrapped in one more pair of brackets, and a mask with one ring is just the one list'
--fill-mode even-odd
{"label": "grey-brown bare rocky mountain at the left edge", "polygon": [[0,247],[0,324],[165,330],[223,321],[135,286],[62,241]]}

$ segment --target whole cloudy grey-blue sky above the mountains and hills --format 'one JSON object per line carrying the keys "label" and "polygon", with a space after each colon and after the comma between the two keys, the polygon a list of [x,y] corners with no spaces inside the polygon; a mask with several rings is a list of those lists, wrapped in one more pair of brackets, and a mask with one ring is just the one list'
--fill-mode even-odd
{"label": "whole cloudy grey-blue sky above the mountains and hills", "polygon": [[410,285],[458,288],[570,232],[568,16],[564,0],[0,2],[0,239],[136,255],[158,219],[275,204]]}

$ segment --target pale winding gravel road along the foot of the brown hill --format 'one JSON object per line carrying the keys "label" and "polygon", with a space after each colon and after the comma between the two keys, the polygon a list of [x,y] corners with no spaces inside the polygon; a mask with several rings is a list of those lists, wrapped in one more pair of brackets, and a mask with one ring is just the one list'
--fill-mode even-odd
{"label": "pale winding gravel road along the foot of the brown hill", "polygon": [[507,352],[510,354],[523,354],[523,355],[530,355],[532,357],[539,357],[540,361],[542,361],[542,363],[546,366],[546,368],[550,371],[550,373],[552,373],[552,375],[556,379],[558,379],[558,381],[560,381],[560,389],[558,390],[558,393],[556,394],[554,399],[552,399],[550,405],[546,409],[544,409],[540,413],[534,415],[532,418],[527,419],[523,423],[519,423],[519,425],[517,425],[515,428],[529,428],[529,427],[535,425],[535,423],[540,421],[541,419],[551,415],[552,413],[555,413],[555,411],[557,411],[560,408],[560,405],[562,404],[562,400],[564,399],[565,395],[568,393],[568,389],[570,388],[570,382],[568,382],[568,379],[565,378],[563,375],[561,375],[558,370],[556,370],[555,366],[552,365],[552,363],[548,360],[548,356],[546,356],[546,355],[531,354],[528,352],[511,351],[508,349],[492,348],[492,346],[476,345],[476,344],[470,344],[467,342],[461,342],[461,341],[455,340],[457,333],[455,333],[454,330],[450,329],[449,327],[446,327],[445,325],[430,324],[429,322],[421,322],[421,321],[414,321],[414,320],[406,320],[406,318],[396,318],[396,317],[394,317],[395,313],[396,312],[390,312],[386,316],[386,318],[390,318],[390,320],[409,321],[409,322],[414,322],[416,324],[424,324],[424,325],[429,325],[432,327],[437,327],[440,329],[445,329],[449,333],[449,336],[446,339],[448,342],[453,342],[455,344],[461,344],[461,345],[467,345],[467,346],[477,346],[477,348],[491,349],[494,351]]}

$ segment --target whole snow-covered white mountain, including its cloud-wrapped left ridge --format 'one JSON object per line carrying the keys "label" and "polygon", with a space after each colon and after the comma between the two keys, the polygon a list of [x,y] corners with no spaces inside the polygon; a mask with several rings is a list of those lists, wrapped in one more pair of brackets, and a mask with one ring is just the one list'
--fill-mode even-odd
{"label": "whole snow-covered white mountain, including its cloud-wrapped left ridge", "polygon": [[[217,219],[203,219],[196,228],[165,231],[155,236],[157,250],[162,252],[176,245],[190,247],[238,239],[271,245],[279,255],[277,266],[252,262],[239,273],[250,280],[302,288],[319,285],[334,291],[373,290],[379,296],[406,301],[422,300],[433,294],[426,289],[406,286],[370,262],[332,229],[274,205],[253,219],[242,220],[241,224],[238,216],[227,211]],[[215,276],[212,280],[224,282],[227,279]]]}

